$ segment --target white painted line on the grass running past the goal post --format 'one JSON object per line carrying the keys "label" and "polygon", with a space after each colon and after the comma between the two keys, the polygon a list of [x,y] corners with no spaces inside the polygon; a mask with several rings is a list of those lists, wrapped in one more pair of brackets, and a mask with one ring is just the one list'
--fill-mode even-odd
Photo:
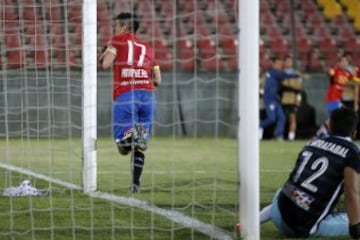
{"label": "white painted line on the grass running past the goal post", "polygon": [[[63,186],[63,187],[69,188],[69,189],[80,190],[80,191],[82,190],[82,187],[79,185],[68,183],[63,180],[52,178],[52,177],[49,177],[49,176],[46,176],[43,174],[39,174],[39,173],[36,173],[36,172],[28,170],[28,169],[16,167],[16,166],[6,164],[6,163],[0,163],[0,167],[4,168],[4,169],[8,169],[10,171],[29,175],[29,176],[32,176],[32,177],[35,177],[38,179],[42,179],[42,180],[45,180],[45,181],[48,181],[51,183],[55,183],[57,185],[60,185],[60,186]],[[123,205],[140,208],[145,211],[153,212],[153,213],[163,216],[173,222],[181,224],[185,227],[193,228],[196,231],[201,232],[201,233],[211,237],[212,239],[219,239],[219,240],[233,239],[231,234],[226,230],[223,230],[221,228],[218,228],[218,227],[210,225],[210,224],[203,223],[195,218],[188,217],[188,216],[184,215],[183,213],[180,213],[180,212],[177,212],[174,210],[167,210],[167,209],[159,208],[155,205],[149,204],[146,201],[142,201],[142,200],[135,199],[135,198],[121,197],[121,196],[113,195],[113,194],[106,193],[106,192],[100,192],[100,191],[88,193],[87,195],[90,197],[100,198],[100,199],[104,199],[107,201],[112,201],[112,202],[120,203]]]}

